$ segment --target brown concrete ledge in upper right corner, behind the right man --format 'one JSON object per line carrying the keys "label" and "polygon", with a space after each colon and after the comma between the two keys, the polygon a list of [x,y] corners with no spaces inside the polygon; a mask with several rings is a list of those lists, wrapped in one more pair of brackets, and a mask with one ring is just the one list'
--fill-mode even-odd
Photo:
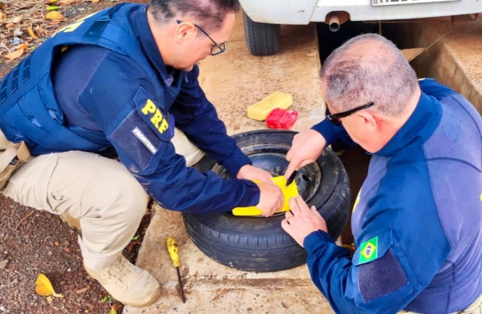
{"label": "brown concrete ledge in upper right corner, behind the right man", "polygon": [[407,47],[428,47],[444,36],[411,64],[419,77],[433,77],[455,89],[482,113],[482,16],[469,22],[404,24],[400,34]]}

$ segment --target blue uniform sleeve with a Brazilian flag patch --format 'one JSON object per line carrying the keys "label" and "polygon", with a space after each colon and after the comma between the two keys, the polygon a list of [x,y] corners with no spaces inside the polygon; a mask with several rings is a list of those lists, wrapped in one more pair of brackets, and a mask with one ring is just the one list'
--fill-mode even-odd
{"label": "blue uniform sleeve with a Brazilian flag patch", "polygon": [[305,238],[312,280],[336,313],[401,311],[428,286],[450,250],[437,223],[414,229],[404,220],[407,227],[394,228],[390,211],[396,209],[371,210],[353,257],[321,230]]}

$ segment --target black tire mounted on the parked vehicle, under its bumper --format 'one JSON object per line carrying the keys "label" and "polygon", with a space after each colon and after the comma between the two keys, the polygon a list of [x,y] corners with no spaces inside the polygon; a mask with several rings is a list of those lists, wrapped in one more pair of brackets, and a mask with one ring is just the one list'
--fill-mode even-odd
{"label": "black tire mounted on the parked vehicle, under its bumper", "polygon": [[279,24],[253,22],[243,11],[244,36],[254,56],[270,56],[279,52]]}

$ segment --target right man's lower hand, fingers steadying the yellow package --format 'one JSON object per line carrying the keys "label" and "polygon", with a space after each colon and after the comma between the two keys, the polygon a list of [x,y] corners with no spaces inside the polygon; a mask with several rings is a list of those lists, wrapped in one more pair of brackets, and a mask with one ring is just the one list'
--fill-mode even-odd
{"label": "right man's lower hand, fingers steadying the yellow package", "polygon": [[305,241],[308,234],[317,230],[327,232],[326,221],[316,211],[316,207],[308,208],[308,205],[300,195],[291,198],[289,205],[291,211],[286,211],[286,218],[282,220],[282,228],[300,246],[303,246],[303,241]]}

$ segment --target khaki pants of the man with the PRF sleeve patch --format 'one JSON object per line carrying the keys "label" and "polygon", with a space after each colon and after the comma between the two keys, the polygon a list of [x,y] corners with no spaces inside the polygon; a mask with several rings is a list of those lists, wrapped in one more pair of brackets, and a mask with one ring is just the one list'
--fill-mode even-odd
{"label": "khaki pants of the man with the PRF sleeve patch", "polygon": [[[188,166],[204,155],[180,130],[175,129],[171,142]],[[34,157],[14,172],[2,192],[24,206],[80,218],[82,257],[95,271],[122,254],[148,200],[122,163],[85,151]]]}

